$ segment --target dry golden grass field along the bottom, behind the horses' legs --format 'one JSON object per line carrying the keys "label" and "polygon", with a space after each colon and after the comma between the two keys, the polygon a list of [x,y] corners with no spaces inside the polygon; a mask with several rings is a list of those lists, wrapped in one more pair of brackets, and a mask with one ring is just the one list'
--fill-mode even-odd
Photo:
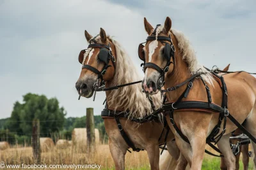
{"label": "dry golden grass field along the bottom, behind the horses' legs", "polygon": [[[115,169],[108,145],[97,146],[95,153],[84,153],[81,147],[69,146],[65,149],[54,147],[51,151],[43,152],[42,164],[99,164],[100,169]],[[33,164],[32,148],[8,148],[0,151],[0,162],[4,164]],[[240,163],[243,169],[243,163]],[[5,169],[7,169],[5,167]],[[21,169],[21,168],[14,168]],[[54,169],[54,168],[53,168]],[[74,169],[74,168],[70,168]],[[147,152],[132,152],[125,155],[125,169],[150,169]],[[220,169],[220,158],[205,155],[202,169]],[[253,169],[252,159],[250,169]]]}

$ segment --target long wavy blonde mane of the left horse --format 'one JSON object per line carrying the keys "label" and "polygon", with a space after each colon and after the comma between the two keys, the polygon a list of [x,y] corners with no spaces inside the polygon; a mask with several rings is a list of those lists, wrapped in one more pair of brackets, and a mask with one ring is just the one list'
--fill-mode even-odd
{"label": "long wavy blonde mane of the left horse", "polygon": [[[136,68],[127,52],[113,38],[108,36],[108,39],[115,45],[116,49],[115,77],[109,86],[140,81],[142,78],[136,72]],[[161,105],[160,94],[152,95],[152,100],[156,108],[159,108]],[[141,83],[111,91],[108,104],[115,105],[115,109],[118,107],[124,108],[126,111],[129,111],[129,116],[132,118],[141,118],[152,112],[148,98],[145,93],[142,93]]]}

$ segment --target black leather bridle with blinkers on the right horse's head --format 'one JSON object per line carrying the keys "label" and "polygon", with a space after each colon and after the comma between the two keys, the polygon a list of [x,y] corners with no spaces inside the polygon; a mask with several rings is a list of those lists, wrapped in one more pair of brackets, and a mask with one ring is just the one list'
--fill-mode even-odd
{"label": "black leather bridle with blinkers on the right horse's head", "polygon": [[[153,33],[147,37],[147,42],[157,40],[157,41],[160,41],[165,44],[164,45],[164,58],[167,60],[167,63],[164,66],[164,68],[162,69],[155,63],[151,63],[151,62],[146,63],[145,54],[143,52],[143,47],[144,47],[143,43],[147,43],[147,42],[140,43],[139,48],[138,48],[138,54],[139,54],[139,58],[142,61],[144,61],[144,63],[141,64],[141,66],[143,66],[143,72],[145,72],[146,69],[148,67],[150,67],[150,68],[157,70],[157,72],[160,73],[159,79],[158,79],[158,88],[161,89],[161,87],[164,86],[164,74],[166,72],[168,72],[170,64],[173,63],[173,65],[174,65],[174,63],[175,63],[175,47],[173,46],[171,35],[169,35],[169,37],[166,37],[166,36],[157,36],[156,37],[156,30],[157,30],[157,27],[159,27],[159,26],[161,26],[161,25],[158,24],[156,26],[156,28],[154,29]],[[167,43],[164,41],[167,41],[170,43]],[[173,61],[171,61],[171,58],[173,58]]]}

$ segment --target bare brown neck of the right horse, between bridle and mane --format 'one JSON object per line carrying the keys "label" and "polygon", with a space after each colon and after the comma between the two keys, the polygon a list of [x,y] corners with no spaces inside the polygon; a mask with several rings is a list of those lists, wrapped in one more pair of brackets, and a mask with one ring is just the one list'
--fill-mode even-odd
{"label": "bare brown neck of the right horse, between bridle and mane", "polygon": [[[175,44],[174,44],[175,45]],[[164,83],[164,89],[170,88],[173,86],[177,86],[181,82],[186,81],[191,77],[191,73],[189,72],[188,64],[182,59],[181,53],[179,52],[179,48],[175,46],[176,52],[175,52],[175,66],[172,73],[167,73],[165,83]],[[181,86],[179,89],[176,89],[175,91],[166,93],[166,97],[168,98],[168,101],[177,100],[177,98],[180,97],[180,95],[185,90],[186,86]]]}

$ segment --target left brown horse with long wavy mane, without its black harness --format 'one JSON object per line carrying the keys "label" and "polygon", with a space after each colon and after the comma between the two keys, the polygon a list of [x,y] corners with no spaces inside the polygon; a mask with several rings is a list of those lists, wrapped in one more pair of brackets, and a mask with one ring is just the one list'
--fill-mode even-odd
{"label": "left brown horse with long wavy mane, without its black harness", "polygon": [[[106,88],[140,80],[131,58],[129,58],[120,43],[106,35],[104,29],[100,28],[99,35],[94,38],[87,31],[84,33],[86,40],[90,44],[99,44],[99,47],[88,48],[88,50],[80,56],[79,61],[83,63],[83,65],[90,65],[97,70],[102,70],[104,65],[106,65],[106,63],[104,63],[106,60],[102,58],[100,52],[105,45],[110,46],[113,58],[115,58],[109,60],[106,73],[102,76]],[[95,90],[93,84],[97,82],[97,76],[98,75],[92,72],[90,68],[81,70],[80,77],[76,82],[79,95],[86,98],[92,97],[93,91]],[[160,95],[152,97],[152,100],[156,107],[160,106]],[[129,118],[141,118],[152,112],[150,102],[146,98],[145,93],[141,92],[140,84],[126,86],[113,91],[106,91],[106,102],[109,110],[129,111]],[[159,141],[159,137],[164,128],[163,116],[159,115],[159,120],[148,121],[141,125],[134,123],[129,120],[129,118],[120,119],[122,128],[124,128],[126,134],[129,135],[129,138],[136,148],[147,150],[151,169],[159,169],[159,144],[164,143],[164,136],[166,134],[165,129],[162,135],[163,137],[161,137]],[[129,149],[129,146],[120,134],[120,130],[114,118],[104,117],[104,125],[109,136],[109,149],[115,162],[115,169],[124,169],[125,153]],[[173,139],[174,135],[170,131],[167,138],[168,151],[170,151],[172,157],[177,160],[179,158],[179,149],[175,142],[172,142]]]}

